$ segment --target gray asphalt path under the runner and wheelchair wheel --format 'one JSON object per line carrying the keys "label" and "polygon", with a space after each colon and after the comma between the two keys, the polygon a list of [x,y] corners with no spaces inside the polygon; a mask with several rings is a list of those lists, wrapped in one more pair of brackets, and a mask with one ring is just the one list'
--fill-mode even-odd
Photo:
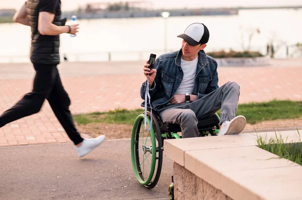
{"label": "gray asphalt path under the runner and wheelchair wheel", "polygon": [[130,140],[104,141],[81,159],[71,143],[0,147],[0,199],[168,200],[172,160],[164,156],[149,190],[133,174],[129,146]]}

